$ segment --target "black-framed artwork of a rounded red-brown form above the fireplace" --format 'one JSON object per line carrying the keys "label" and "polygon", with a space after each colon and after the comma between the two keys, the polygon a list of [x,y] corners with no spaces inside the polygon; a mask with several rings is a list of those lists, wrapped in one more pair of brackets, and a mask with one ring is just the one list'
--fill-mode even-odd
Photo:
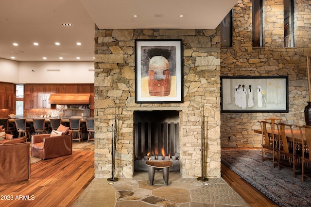
{"label": "black-framed artwork of a rounded red-brown form above the fireplace", "polygon": [[135,40],[135,102],[182,102],[182,40]]}

